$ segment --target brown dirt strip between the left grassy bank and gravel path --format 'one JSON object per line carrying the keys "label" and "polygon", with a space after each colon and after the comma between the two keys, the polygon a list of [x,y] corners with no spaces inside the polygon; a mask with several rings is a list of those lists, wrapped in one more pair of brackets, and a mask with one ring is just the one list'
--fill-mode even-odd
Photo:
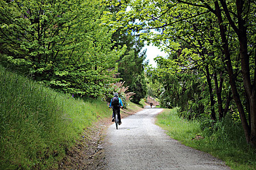
{"label": "brown dirt strip between the left grassy bank and gravel path", "polygon": [[[122,118],[133,115],[142,108],[121,110]],[[58,170],[104,170],[105,153],[101,145],[104,134],[113,122],[110,118],[103,118],[84,129],[77,144],[66,150],[66,156],[59,162]]]}

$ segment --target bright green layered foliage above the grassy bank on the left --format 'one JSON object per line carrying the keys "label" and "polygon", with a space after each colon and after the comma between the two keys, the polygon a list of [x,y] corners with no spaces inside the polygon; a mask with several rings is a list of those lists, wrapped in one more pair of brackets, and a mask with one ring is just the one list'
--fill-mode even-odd
{"label": "bright green layered foliage above the grassy bank on the left", "polygon": [[0,51],[5,65],[23,68],[59,91],[102,96],[115,82],[125,47],[111,42],[97,0],[0,1]]}

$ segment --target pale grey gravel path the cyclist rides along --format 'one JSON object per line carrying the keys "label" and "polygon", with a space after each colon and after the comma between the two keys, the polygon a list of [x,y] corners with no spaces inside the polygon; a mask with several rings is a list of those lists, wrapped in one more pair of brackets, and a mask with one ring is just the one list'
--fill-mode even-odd
{"label": "pale grey gravel path the cyclist rides along", "polygon": [[210,154],[186,147],[154,124],[162,109],[144,109],[109,126],[106,170],[230,170]]}

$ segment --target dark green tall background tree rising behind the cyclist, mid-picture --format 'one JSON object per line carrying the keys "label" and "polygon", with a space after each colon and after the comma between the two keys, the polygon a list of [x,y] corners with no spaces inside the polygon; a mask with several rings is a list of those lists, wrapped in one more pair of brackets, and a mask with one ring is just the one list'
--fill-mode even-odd
{"label": "dark green tall background tree rising behind the cyclist, mid-picture", "polygon": [[[113,6],[109,4],[110,12],[113,13],[113,21],[117,20],[118,12],[125,10],[125,4]],[[134,22],[134,21],[133,21]],[[114,28],[115,29],[115,28]],[[112,41],[116,42],[114,47],[126,46],[126,51],[120,56],[118,61],[118,78],[121,78],[124,85],[129,86],[128,92],[134,92],[132,102],[138,103],[146,96],[146,83],[143,64],[146,58],[146,51],[142,51],[144,42],[131,30],[121,30],[117,28],[112,35]]]}

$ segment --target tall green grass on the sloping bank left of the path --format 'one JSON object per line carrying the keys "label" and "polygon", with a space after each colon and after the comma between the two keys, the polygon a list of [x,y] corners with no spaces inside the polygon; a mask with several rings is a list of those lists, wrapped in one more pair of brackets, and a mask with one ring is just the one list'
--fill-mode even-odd
{"label": "tall green grass on the sloping bank left of the path", "polygon": [[50,169],[83,128],[111,115],[105,102],[59,94],[0,67],[0,169]]}

